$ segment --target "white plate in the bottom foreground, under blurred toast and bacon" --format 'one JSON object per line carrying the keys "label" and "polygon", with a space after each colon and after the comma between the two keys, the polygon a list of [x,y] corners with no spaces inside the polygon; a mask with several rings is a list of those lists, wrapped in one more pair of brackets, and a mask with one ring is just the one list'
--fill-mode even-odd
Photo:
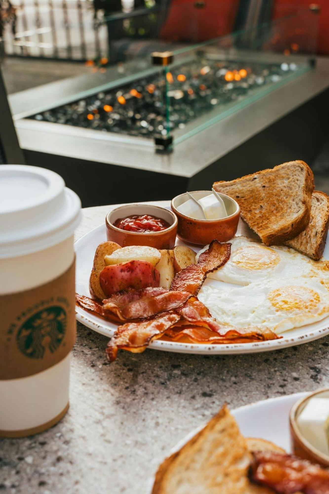
{"label": "white plate in the bottom foreground, under blurred toast and bacon", "polygon": [[[241,433],[245,437],[266,439],[291,453],[289,412],[294,403],[309,393],[295,393],[279,398],[270,398],[257,403],[246,405],[231,411],[235,416]],[[180,450],[193,436],[195,436],[206,424],[191,431],[179,441],[169,452],[170,454]],[[153,485],[154,479],[150,485]],[[150,487],[150,493],[152,488]]]}

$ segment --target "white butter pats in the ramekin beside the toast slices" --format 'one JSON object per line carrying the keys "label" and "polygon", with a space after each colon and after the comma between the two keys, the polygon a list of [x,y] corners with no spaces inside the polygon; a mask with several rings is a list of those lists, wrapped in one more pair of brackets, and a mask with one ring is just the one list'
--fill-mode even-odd
{"label": "white butter pats in the ramekin beside the toast slices", "polygon": [[208,196],[199,199],[198,203],[202,206],[206,218],[202,208],[199,207],[193,199],[188,199],[185,203],[177,206],[177,211],[194,219],[220,219],[227,217],[223,201],[220,202],[214,194],[209,194]]}

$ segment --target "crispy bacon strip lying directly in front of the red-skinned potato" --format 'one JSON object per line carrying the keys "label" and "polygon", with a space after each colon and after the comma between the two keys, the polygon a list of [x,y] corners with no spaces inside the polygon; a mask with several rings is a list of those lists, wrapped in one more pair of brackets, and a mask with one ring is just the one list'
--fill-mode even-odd
{"label": "crispy bacon strip lying directly in front of the red-skinned potato", "polygon": [[[135,293],[113,295],[104,300],[103,310],[114,314],[121,321],[147,319],[162,312],[181,307],[191,294],[184,291],[168,291],[165,288],[145,288]],[[129,300],[129,301],[127,301]]]}

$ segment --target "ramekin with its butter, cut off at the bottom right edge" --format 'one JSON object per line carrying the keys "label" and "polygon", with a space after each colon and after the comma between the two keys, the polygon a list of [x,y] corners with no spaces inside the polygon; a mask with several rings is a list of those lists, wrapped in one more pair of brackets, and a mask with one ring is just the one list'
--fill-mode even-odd
{"label": "ramekin with its butter, cut off at the bottom right edge", "polygon": [[296,456],[329,466],[329,388],[298,400],[289,414],[292,451]]}

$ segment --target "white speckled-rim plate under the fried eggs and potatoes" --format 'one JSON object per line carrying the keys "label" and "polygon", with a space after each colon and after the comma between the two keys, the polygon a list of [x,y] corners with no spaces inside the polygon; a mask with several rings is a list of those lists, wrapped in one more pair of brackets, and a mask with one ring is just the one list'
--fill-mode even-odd
{"label": "white speckled-rim plate under the fried eggs and potatoes", "polygon": [[[252,237],[251,230],[240,221],[237,235],[245,235]],[[80,295],[86,295],[90,297],[89,292],[89,276],[92,268],[93,258],[96,247],[106,241],[106,227],[100,225],[89,233],[81,237],[75,243],[76,256],[77,256],[77,269],[76,269],[76,291]],[[177,241],[177,244],[184,245],[182,242]],[[193,247],[194,250],[198,248]],[[329,259],[329,243],[327,243],[324,257]],[[207,283],[207,281],[205,282]],[[211,284],[216,284],[211,280]],[[98,333],[111,337],[114,331],[117,329],[117,325],[104,321],[97,316],[90,314],[81,307],[76,308],[77,320]],[[257,343],[231,343],[225,345],[205,345],[197,343],[179,343],[174,341],[162,341],[156,340],[150,344],[150,348],[155,350],[165,350],[169,352],[178,353],[194,353],[194,354],[242,354],[242,353],[255,353],[265,352],[269,350],[277,350],[279,348],[285,348],[288,346],[300,345],[307,341],[312,341],[322,336],[329,334],[329,317],[323,319],[314,324],[302,326],[301,328],[291,329],[283,333],[283,338],[270,341],[261,341]]]}

